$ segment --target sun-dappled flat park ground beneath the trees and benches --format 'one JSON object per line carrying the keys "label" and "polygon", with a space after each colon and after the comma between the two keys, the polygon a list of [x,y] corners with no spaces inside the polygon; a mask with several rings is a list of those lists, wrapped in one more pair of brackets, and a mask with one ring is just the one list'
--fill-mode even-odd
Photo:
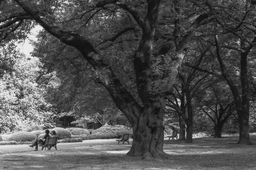
{"label": "sun-dappled flat park ground beneath the trees and benches", "polygon": [[116,145],[115,139],[59,143],[58,150],[38,152],[28,145],[0,146],[0,169],[256,169],[256,146],[236,142],[237,137],[198,138],[193,144],[164,140],[172,159],[162,161],[124,157],[131,145]]}

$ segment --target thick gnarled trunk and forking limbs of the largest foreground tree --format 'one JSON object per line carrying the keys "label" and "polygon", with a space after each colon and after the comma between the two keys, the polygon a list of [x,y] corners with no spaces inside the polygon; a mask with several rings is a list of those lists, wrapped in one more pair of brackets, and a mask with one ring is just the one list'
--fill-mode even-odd
{"label": "thick gnarled trunk and forking limbs of the largest foreground tree", "polygon": [[[134,138],[127,155],[143,156],[143,159],[167,157],[168,155],[163,152],[166,96],[172,90],[177,69],[184,58],[184,49],[188,47],[195,30],[207,24],[211,15],[204,10],[199,12],[198,6],[192,11],[190,9],[194,6],[192,3],[177,0],[94,2],[45,0],[37,3],[15,0],[15,2],[22,9],[15,9],[17,13],[11,13],[8,15],[9,18],[19,18],[17,19],[19,21],[24,20],[24,17],[20,18],[20,16],[26,16],[35,20],[62,43],[76,48],[92,65],[95,81],[108,90],[117,108],[125,114],[132,125]],[[138,34],[135,34],[139,37],[138,46],[132,52],[131,60],[136,79],[136,93],[140,101],[131,95],[116,76],[113,66],[108,62],[108,55],[98,52],[88,40],[90,35],[86,34],[86,31],[90,32],[93,18],[100,25],[104,24],[104,20],[111,20],[111,17],[113,19],[127,15],[131,24],[135,25],[135,30],[139,30]],[[174,46],[167,48],[164,53],[158,53],[154,49],[157,22],[160,17],[166,16],[170,17],[170,20],[161,23],[161,26],[172,32],[171,39]],[[6,22],[8,17],[5,18]],[[79,18],[85,22],[79,22]],[[79,31],[81,30],[79,27],[83,28],[83,34]],[[119,32],[119,34],[123,33],[125,31]],[[119,34],[110,39],[115,41]]]}

